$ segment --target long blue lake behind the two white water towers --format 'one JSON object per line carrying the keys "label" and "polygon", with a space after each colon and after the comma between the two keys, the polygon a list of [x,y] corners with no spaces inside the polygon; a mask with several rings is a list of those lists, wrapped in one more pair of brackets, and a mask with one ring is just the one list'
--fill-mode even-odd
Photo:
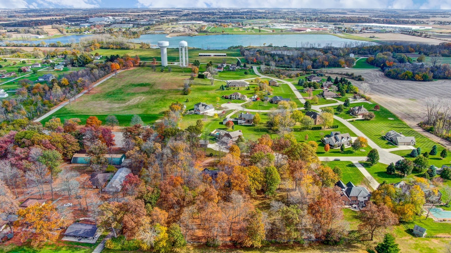
{"label": "long blue lake behind the two white water towers", "polygon": [[[15,43],[34,43],[37,44],[40,41],[45,41],[47,44],[61,41],[61,43],[78,42],[80,38],[92,36],[92,34],[83,35],[69,35],[62,36],[53,39],[43,39],[39,41],[17,40],[9,41]],[[280,35],[242,35],[242,34],[221,34],[221,35],[207,35],[207,36],[177,36],[166,37],[166,34],[143,34],[138,39],[131,39],[131,42],[146,42],[151,45],[156,45],[158,41],[169,41],[170,48],[176,48],[179,46],[179,41],[188,42],[189,47],[201,48],[201,49],[226,49],[230,46],[243,45],[243,46],[315,46],[323,47],[328,45],[343,46],[344,44],[373,44],[376,43],[366,41],[355,41],[339,38],[337,36],[329,34],[280,34]],[[308,44],[308,45],[307,45]]]}

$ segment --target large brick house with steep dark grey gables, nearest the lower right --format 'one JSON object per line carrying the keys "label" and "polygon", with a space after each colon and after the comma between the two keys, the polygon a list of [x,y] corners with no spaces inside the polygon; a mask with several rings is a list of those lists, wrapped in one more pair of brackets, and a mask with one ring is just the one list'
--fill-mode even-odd
{"label": "large brick house with steep dark grey gables, nearest the lower right", "polygon": [[338,181],[335,184],[340,187],[340,197],[343,204],[365,206],[371,198],[371,194],[365,187],[355,186],[352,182],[348,182],[346,185],[343,181]]}

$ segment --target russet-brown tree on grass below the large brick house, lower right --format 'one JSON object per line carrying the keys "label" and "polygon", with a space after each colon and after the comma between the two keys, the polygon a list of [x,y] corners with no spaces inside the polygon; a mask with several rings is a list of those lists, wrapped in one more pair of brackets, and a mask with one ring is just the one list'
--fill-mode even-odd
{"label": "russet-brown tree on grass below the large brick house, lower right", "polygon": [[385,230],[398,224],[398,217],[386,205],[368,202],[359,212],[359,231],[373,240],[375,235],[382,235]]}

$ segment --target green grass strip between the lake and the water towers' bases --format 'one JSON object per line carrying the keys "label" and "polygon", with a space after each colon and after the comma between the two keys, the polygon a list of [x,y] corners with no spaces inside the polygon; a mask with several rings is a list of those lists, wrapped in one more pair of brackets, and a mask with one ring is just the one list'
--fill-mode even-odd
{"label": "green grass strip between the lake and the water towers' bases", "polygon": [[[130,56],[138,55],[139,59],[142,61],[161,61],[161,51],[160,49],[99,49],[91,52],[92,54],[99,53],[103,56],[110,56],[119,54],[120,56],[124,54],[129,54]],[[199,53],[226,53],[226,57],[199,57]],[[168,48],[168,61],[178,62],[179,61],[179,50]],[[236,63],[237,59],[235,57],[241,57],[239,54],[239,49],[227,49],[227,50],[189,50],[189,61],[193,62],[195,59],[199,60],[201,63],[208,63],[212,61],[213,63],[222,63],[223,59],[226,59],[227,63]]]}

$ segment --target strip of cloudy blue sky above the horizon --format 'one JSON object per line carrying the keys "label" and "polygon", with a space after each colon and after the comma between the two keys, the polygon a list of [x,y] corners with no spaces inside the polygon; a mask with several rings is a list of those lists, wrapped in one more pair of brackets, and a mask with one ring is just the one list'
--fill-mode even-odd
{"label": "strip of cloudy blue sky above the horizon", "polygon": [[451,9],[451,0],[0,0],[0,8]]}

